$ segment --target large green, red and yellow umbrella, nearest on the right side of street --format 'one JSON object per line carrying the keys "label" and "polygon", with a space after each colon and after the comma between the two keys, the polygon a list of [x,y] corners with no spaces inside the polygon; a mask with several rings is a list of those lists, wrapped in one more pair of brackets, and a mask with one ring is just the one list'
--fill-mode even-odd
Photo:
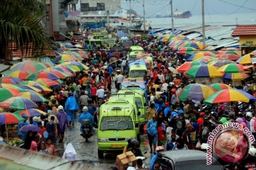
{"label": "large green, red and yellow umbrella, nearest on the right side of street", "polygon": [[222,102],[249,102],[249,98],[236,89],[224,89],[209,96],[204,103],[211,105]]}

